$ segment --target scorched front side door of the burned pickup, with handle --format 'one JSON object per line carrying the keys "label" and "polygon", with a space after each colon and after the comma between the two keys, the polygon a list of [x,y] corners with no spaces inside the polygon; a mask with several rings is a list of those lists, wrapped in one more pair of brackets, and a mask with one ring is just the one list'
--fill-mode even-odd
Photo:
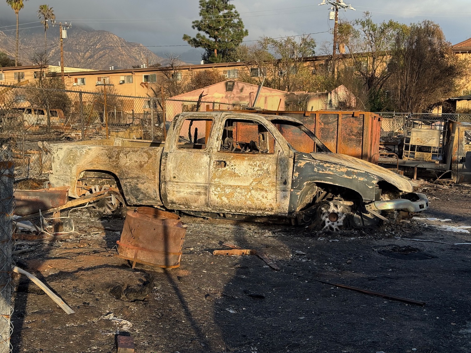
{"label": "scorched front side door of the burned pickup, with handle", "polygon": [[256,119],[229,117],[222,124],[210,164],[213,212],[287,213],[292,163],[279,168],[283,152],[273,134]]}

